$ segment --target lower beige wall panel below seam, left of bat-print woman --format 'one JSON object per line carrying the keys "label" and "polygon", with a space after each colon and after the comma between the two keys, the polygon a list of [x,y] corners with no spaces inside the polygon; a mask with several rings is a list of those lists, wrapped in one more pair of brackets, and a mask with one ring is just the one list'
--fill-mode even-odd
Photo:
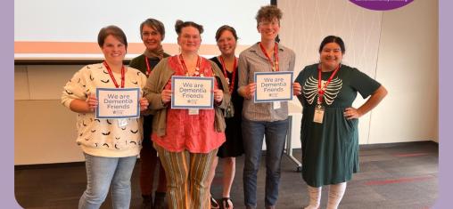
{"label": "lower beige wall panel below seam, left of bat-print woman", "polygon": [[59,100],[15,100],[14,165],[83,161],[76,115]]}

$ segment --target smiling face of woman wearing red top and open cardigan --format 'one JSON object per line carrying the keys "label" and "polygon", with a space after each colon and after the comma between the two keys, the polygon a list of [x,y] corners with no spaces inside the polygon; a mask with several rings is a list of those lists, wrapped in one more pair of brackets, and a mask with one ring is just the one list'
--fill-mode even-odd
{"label": "smiling face of woman wearing red top and open cardigan", "polygon": [[177,36],[177,44],[181,47],[181,52],[197,52],[202,44],[200,31],[192,26],[181,28],[181,34]]}

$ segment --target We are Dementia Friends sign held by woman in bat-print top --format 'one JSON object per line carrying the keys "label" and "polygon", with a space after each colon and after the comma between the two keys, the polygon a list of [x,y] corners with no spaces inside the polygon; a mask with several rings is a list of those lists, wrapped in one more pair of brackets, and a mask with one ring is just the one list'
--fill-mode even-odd
{"label": "We are Dementia Friends sign held by woman in bat-print top", "polygon": [[96,88],[96,118],[140,117],[140,88]]}

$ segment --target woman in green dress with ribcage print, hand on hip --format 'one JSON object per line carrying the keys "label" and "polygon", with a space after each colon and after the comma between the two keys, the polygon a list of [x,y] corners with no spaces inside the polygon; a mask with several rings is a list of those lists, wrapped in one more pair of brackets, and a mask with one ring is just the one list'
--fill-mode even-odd
{"label": "woman in green dress with ribcage print, hand on hip", "polygon": [[[337,208],[346,181],[358,172],[358,117],[375,108],[387,91],[370,76],[342,65],[345,47],[339,36],[326,36],[319,46],[320,62],[305,67],[296,82],[303,106],[301,122],[302,178],[309,205],[319,208],[321,189],[329,185],[327,208]],[[352,107],[357,92],[368,100]]]}

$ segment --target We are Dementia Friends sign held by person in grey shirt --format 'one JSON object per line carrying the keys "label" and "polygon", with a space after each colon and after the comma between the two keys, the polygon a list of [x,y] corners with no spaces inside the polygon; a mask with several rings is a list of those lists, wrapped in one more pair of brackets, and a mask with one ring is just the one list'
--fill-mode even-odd
{"label": "We are Dementia Friends sign held by person in grey shirt", "polygon": [[256,72],[254,102],[292,100],[292,72]]}

